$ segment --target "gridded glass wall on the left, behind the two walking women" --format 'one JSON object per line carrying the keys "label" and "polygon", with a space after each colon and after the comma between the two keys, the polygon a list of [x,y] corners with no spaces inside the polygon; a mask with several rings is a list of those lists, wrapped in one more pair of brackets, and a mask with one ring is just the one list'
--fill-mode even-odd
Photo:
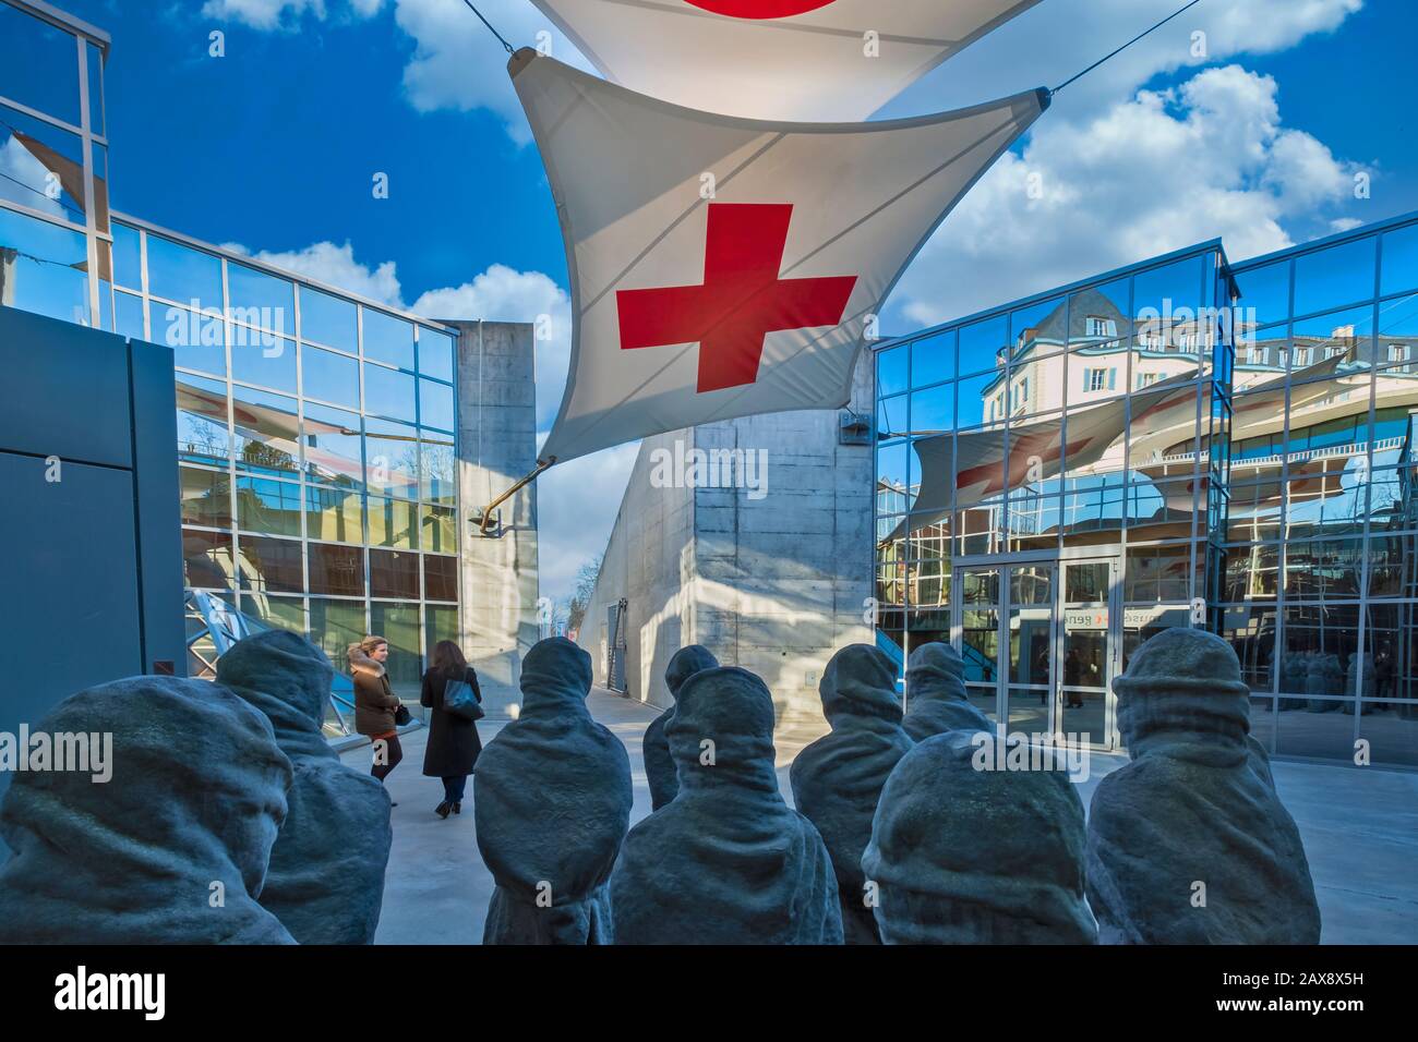
{"label": "gridded glass wall on the left, behind the two walking women", "polygon": [[115,221],[118,332],[173,349],[187,584],[308,632],[366,632],[417,693],[458,634],[450,332]]}

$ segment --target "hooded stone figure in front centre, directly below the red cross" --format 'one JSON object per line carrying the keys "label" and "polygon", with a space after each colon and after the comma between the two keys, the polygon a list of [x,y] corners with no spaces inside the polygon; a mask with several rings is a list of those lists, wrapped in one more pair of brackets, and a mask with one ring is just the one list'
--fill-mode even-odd
{"label": "hooded stone figure in front centre, directly below the red cross", "polygon": [[708,669],[665,729],[679,794],[631,829],[611,876],[617,944],[841,944],[822,838],[783,802],[773,696]]}

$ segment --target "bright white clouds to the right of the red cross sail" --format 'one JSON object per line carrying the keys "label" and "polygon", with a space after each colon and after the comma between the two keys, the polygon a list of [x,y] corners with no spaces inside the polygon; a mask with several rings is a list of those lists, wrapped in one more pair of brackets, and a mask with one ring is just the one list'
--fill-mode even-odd
{"label": "bright white clouds to the right of the red cross sail", "polygon": [[[882,115],[1058,85],[1178,6],[1038,4]],[[1354,220],[1334,211],[1353,201],[1356,166],[1282,125],[1273,79],[1217,62],[1333,33],[1361,7],[1363,0],[1198,4],[1069,85],[1022,150],[1005,155],[936,233],[898,286],[891,313],[912,327],[943,322],[1217,235],[1231,259],[1241,259]],[[1178,86],[1141,89],[1183,69],[1195,72]],[[1038,198],[1029,194],[1031,174]]]}

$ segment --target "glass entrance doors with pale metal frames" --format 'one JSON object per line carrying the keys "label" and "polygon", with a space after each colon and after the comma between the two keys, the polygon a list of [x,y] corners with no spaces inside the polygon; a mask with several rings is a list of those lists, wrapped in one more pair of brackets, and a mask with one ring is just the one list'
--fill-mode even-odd
{"label": "glass entrance doors with pale metal frames", "polygon": [[970,700],[1010,732],[1115,747],[1116,560],[1001,561],[956,574]]}

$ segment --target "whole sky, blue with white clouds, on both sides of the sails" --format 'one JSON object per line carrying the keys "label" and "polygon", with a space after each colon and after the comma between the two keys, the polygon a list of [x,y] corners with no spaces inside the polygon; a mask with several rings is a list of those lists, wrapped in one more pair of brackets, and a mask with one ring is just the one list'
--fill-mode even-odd
{"label": "whole sky, blue with white clouds, on both sides of the sails", "polygon": [[[1042,0],[882,115],[1058,84],[1178,3]],[[553,313],[545,430],[566,370],[562,240],[506,55],[462,0],[60,6],[113,37],[116,208],[434,316]],[[481,6],[515,44],[546,24],[530,0]],[[1202,0],[1056,98],[917,258],[886,332],[1214,235],[1241,259],[1418,210],[1415,38],[1409,0]],[[1020,191],[1031,173],[1042,200]],[[632,458],[610,449],[540,481],[543,593],[564,595],[604,547]]]}

